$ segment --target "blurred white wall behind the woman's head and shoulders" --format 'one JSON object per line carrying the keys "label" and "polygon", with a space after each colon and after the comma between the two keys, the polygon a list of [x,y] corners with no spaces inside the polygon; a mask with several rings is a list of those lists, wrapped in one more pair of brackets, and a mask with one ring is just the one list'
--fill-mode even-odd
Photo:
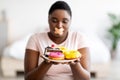
{"label": "blurred white wall behind the woman's head and shoulders", "polygon": [[[6,11],[9,42],[48,26],[50,5],[56,0],[0,0]],[[71,28],[103,36],[110,26],[109,12],[120,14],[120,0],[65,0],[73,12]]]}

